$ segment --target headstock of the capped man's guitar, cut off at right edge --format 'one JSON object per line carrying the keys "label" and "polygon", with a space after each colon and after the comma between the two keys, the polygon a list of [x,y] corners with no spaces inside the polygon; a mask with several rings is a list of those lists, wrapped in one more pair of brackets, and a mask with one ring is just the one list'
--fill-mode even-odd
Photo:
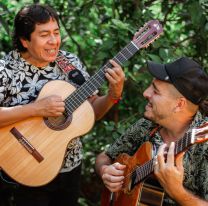
{"label": "headstock of the capped man's guitar, cut off at right edge", "polygon": [[196,143],[208,141],[208,122],[192,130],[192,139]]}

